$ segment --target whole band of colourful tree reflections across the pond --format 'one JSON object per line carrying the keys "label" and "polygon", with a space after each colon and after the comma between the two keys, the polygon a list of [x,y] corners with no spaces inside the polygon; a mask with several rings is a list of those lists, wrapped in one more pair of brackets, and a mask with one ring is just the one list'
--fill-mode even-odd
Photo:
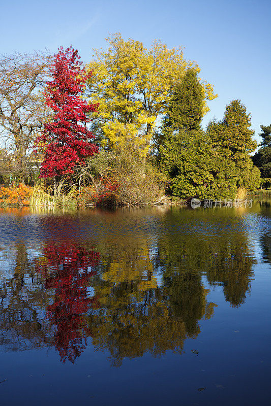
{"label": "whole band of colourful tree reflections across the pond", "polygon": [[[76,235],[83,232],[79,220],[40,218],[42,235],[52,238],[41,241],[32,255],[27,242],[12,243],[14,258],[3,258],[5,269],[13,264],[13,275],[7,277],[5,270],[1,275],[0,344],[6,350],[54,346],[63,362],[74,363],[91,337],[115,366],[146,352],[182,353],[185,340],[198,336],[200,320],[212,317],[217,306],[207,300],[204,278],[210,286],[223,286],[226,301],[239,307],[255,264],[245,232],[228,227],[202,238],[194,230],[197,219],[194,229],[188,225],[193,215],[186,223],[178,212],[169,213],[161,228],[173,231],[156,238],[125,234],[119,225],[111,235],[110,227],[99,223],[91,242],[63,235],[65,224]],[[176,233],[178,221],[183,231]],[[215,229],[212,217],[208,221]],[[264,236],[261,243],[269,247],[264,255],[270,258],[270,239]]]}

